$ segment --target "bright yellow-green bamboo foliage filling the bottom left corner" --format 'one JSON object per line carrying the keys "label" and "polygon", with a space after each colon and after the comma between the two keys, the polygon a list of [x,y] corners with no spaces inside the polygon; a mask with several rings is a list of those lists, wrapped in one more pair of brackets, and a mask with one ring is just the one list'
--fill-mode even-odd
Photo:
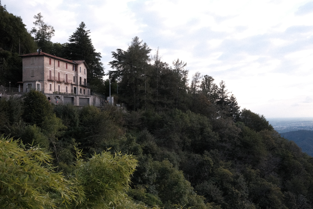
{"label": "bright yellow-green bamboo foliage filling the bottom left corner", "polygon": [[65,208],[75,201],[71,182],[54,172],[44,149],[0,138],[1,208]]}

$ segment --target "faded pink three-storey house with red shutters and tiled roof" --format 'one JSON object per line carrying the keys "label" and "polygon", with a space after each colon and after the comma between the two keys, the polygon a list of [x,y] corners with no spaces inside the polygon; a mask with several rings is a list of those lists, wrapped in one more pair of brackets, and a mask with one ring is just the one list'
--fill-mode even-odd
{"label": "faded pink three-storey house with red shutters and tiled roof", "polygon": [[90,95],[85,60],[67,60],[38,50],[23,58],[23,89],[44,94]]}

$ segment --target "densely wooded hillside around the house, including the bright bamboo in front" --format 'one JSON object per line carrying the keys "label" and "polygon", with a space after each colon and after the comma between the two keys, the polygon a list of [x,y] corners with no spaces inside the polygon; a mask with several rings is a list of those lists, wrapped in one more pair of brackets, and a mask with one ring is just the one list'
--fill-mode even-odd
{"label": "densely wooded hillside around the house, including the bright bamboo in front", "polygon": [[[8,18],[1,31],[10,18],[22,23],[0,9]],[[23,27],[31,45],[47,43]],[[70,43],[57,44],[59,52],[77,47],[71,40],[88,36],[85,27],[80,24]],[[21,70],[11,36],[0,45],[6,79]],[[56,49],[48,43],[46,50]],[[184,61],[168,64],[158,50],[150,52],[138,37],[112,52],[108,75],[118,93],[111,93],[127,108],[54,105],[36,90],[1,98],[0,207],[313,207],[312,157],[263,115],[240,109],[224,81],[198,72],[188,81]],[[104,69],[94,61],[94,89],[105,92]]]}

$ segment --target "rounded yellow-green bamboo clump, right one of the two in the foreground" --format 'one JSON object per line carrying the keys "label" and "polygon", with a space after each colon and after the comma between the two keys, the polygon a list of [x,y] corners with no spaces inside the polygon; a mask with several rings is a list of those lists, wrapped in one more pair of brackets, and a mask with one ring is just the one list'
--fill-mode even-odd
{"label": "rounded yellow-green bamboo clump, right one of the two in the foreground", "polygon": [[80,157],[78,150],[74,178],[84,191],[79,208],[110,208],[127,198],[126,189],[137,167],[132,155],[101,152],[87,162]]}

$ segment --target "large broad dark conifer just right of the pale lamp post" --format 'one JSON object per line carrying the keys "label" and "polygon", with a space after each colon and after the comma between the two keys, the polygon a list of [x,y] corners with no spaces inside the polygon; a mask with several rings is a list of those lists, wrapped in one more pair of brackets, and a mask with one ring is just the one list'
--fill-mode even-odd
{"label": "large broad dark conifer just right of the pale lamp post", "polygon": [[150,51],[148,45],[136,36],[127,51],[117,49],[112,52],[114,60],[109,62],[115,69],[109,71],[109,76],[118,81],[123,102],[133,110],[146,108],[148,101],[151,101],[148,81],[151,74],[151,65],[148,63]]}

